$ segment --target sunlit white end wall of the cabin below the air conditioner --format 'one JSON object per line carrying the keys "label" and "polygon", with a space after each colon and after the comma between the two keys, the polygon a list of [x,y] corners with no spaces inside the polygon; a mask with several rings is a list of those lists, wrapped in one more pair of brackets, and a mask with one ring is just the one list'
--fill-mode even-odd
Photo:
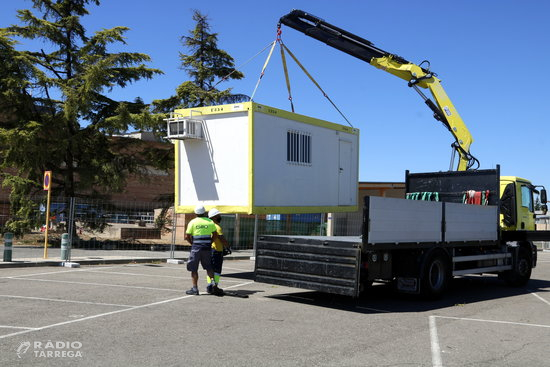
{"label": "sunlit white end wall of the cabin below the air conditioner", "polygon": [[206,140],[180,144],[179,205],[248,205],[248,114],[201,117]]}

